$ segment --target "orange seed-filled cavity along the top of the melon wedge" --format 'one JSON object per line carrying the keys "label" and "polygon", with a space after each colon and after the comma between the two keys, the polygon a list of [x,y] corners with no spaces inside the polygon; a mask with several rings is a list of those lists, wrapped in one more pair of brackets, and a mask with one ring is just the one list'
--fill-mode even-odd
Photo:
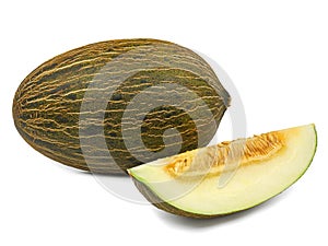
{"label": "orange seed-filled cavity along the top of the melon wedge", "polygon": [[165,165],[164,169],[174,178],[218,176],[222,172],[229,172],[235,167],[245,167],[267,161],[281,151],[284,145],[285,136],[272,131],[179,154],[173,157],[173,161]]}

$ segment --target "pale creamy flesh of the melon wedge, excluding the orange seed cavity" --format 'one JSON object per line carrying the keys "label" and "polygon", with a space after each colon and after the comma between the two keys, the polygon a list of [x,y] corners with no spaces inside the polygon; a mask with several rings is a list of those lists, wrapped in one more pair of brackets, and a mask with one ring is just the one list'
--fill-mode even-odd
{"label": "pale creamy flesh of the melon wedge, excluding the orange seed cavity", "polygon": [[313,160],[317,144],[314,125],[279,132],[285,136],[283,151],[269,160],[241,166],[223,187],[219,187],[220,174],[201,180],[172,177],[163,168],[171,157],[133,167],[129,174],[178,210],[206,215],[245,210],[290,187]]}

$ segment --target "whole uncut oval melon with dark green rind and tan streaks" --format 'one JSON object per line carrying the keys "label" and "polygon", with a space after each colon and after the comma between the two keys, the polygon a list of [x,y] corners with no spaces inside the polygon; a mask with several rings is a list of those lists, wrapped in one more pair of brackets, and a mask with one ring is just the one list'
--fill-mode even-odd
{"label": "whole uncut oval melon with dark green rind and tan streaks", "polygon": [[[141,55],[118,59],[136,50],[141,50]],[[127,68],[133,62],[145,66],[153,62],[143,57],[142,50],[163,62],[130,74]],[[181,69],[184,66],[186,69]],[[127,74],[127,78],[114,84],[108,74]],[[133,148],[128,148],[122,136],[124,114],[139,93],[163,84],[178,84],[197,95],[197,99],[183,101],[192,117],[185,108],[172,106],[172,102],[185,95],[183,90],[174,91],[171,102],[152,108],[141,126],[136,127],[141,132],[142,144],[131,137],[128,141]],[[106,97],[104,91],[114,86],[115,92]],[[90,87],[99,98],[87,97]],[[156,98],[156,95],[152,96]],[[105,101],[107,106],[99,110],[97,99]],[[211,118],[203,117],[201,103],[209,108]],[[169,42],[139,38],[91,44],[46,61],[23,80],[15,93],[12,112],[17,131],[39,153],[79,169],[118,174],[153,161],[149,153],[163,151],[163,134],[167,129],[176,129],[174,134],[179,134],[180,141],[173,141],[172,151],[165,152],[165,156],[175,154],[177,148],[185,152],[207,145],[229,104],[229,93],[197,54]],[[81,117],[84,117],[82,127]],[[94,117],[102,121],[95,124]],[[131,118],[131,126],[134,126],[133,120]],[[175,137],[171,136],[172,139]],[[105,147],[101,144],[103,139]]]}

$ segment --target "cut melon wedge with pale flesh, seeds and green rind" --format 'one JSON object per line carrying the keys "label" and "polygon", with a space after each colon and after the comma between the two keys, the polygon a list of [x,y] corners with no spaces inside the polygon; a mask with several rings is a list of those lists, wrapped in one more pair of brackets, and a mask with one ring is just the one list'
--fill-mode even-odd
{"label": "cut melon wedge with pale flesh, seeds and green rind", "polygon": [[294,184],[317,145],[314,125],[222,142],[128,169],[157,208],[212,218],[255,207]]}

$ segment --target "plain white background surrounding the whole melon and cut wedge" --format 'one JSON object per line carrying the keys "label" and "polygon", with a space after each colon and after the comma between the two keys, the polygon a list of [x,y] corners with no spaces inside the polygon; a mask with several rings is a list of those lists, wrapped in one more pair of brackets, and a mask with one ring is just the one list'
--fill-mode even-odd
{"label": "plain white background surrounding the whole melon and cut wedge", "polygon": [[[2,1],[0,245],[327,244],[327,13],[325,0]],[[248,136],[315,122],[307,173],[262,206],[197,221],[120,200],[30,148],[11,116],[20,82],[69,49],[132,37],[175,42],[221,65],[243,99]]]}

